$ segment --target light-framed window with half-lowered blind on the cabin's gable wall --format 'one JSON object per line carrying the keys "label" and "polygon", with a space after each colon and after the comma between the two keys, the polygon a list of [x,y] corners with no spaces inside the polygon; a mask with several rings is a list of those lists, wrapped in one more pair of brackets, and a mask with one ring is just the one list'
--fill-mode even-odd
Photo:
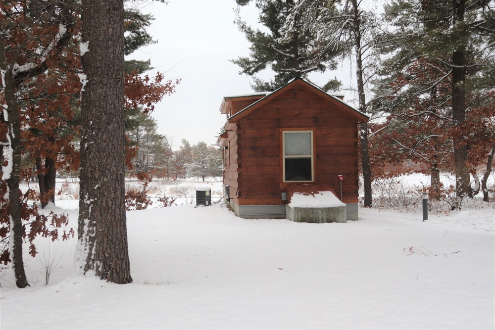
{"label": "light-framed window with half-lowered blind on the cabin's gable wall", "polygon": [[313,131],[283,132],[284,182],[313,181]]}

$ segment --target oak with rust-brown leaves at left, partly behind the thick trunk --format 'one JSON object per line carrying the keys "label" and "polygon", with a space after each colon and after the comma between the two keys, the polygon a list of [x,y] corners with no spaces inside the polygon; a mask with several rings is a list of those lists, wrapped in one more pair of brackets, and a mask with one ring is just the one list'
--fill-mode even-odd
{"label": "oak with rust-brown leaves at left, partly behind the thick trunk", "polygon": [[[63,216],[43,216],[42,207],[54,201],[57,169],[75,172],[80,154],[74,143],[79,134],[82,87],[80,16],[77,1],[13,0],[0,3],[0,262],[12,262],[16,283],[27,284],[22,261],[22,243],[27,239],[31,255],[36,255],[34,237],[57,239],[66,224]],[[127,19],[139,16],[133,14]],[[126,25],[128,28],[132,24]],[[132,39],[132,38],[131,38]],[[134,43],[128,50],[139,46]],[[142,77],[131,63],[126,73],[126,105],[144,105],[173,91],[173,83],[163,77]],[[139,66],[146,67],[146,66]],[[4,150],[7,157],[4,158]],[[128,148],[129,159],[133,150]],[[129,162],[130,163],[130,162]],[[38,177],[40,194],[21,192],[19,182]],[[12,198],[19,191],[19,202]],[[12,219],[12,222],[10,221]],[[52,220],[55,229],[48,230]],[[10,223],[13,224],[12,228]],[[73,236],[68,230],[62,239]],[[12,240],[13,244],[8,244]],[[10,250],[8,246],[12,246]]]}

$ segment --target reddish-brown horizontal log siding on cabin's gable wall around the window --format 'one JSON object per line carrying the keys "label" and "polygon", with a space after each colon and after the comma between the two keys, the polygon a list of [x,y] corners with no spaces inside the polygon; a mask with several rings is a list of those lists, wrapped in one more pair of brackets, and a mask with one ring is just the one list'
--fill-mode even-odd
{"label": "reddish-brown horizontal log siding on cabin's gable wall around the window", "polygon": [[[336,100],[336,102],[339,102]],[[237,120],[239,205],[283,205],[280,129],[315,129],[315,184],[330,184],[343,201],[357,203],[357,120],[319,95],[288,91]],[[231,142],[232,143],[232,142]],[[232,191],[232,188],[231,188]],[[232,194],[232,193],[231,193]]]}

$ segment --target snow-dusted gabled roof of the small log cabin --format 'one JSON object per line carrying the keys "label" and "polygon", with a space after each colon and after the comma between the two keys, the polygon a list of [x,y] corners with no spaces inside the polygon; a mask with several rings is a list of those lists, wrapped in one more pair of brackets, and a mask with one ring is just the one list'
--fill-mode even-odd
{"label": "snow-dusted gabled roof of the small log cabin", "polygon": [[350,105],[347,102],[345,102],[344,100],[340,99],[338,96],[328,94],[328,93],[322,91],[320,88],[318,88],[314,84],[312,84],[312,83],[310,83],[307,80],[302,79],[302,78],[294,78],[289,83],[280,87],[279,89],[275,90],[274,92],[260,92],[260,93],[251,93],[251,94],[238,95],[238,96],[226,96],[226,97],[224,97],[224,99],[222,101],[222,106],[220,107],[220,109],[221,109],[222,113],[227,113],[225,111],[222,111],[223,108],[225,108],[225,104],[227,102],[231,102],[234,99],[235,100],[242,100],[242,99],[253,98],[256,96],[261,96],[261,98],[254,101],[251,105],[247,106],[246,108],[242,109],[241,111],[237,112],[236,114],[234,114],[228,118],[228,120],[230,122],[235,122],[235,121],[245,117],[247,114],[249,114],[254,109],[258,108],[259,106],[261,106],[267,102],[270,102],[273,98],[277,97],[277,95],[284,93],[285,91],[287,91],[288,89],[290,89],[294,86],[303,86],[303,87],[309,88],[311,91],[320,95],[321,97],[323,97],[324,99],[326,99],[328,101],[337,101],[336,104],[338,105],[338,107],[341,110],[344,110],[345,112],[347,112],[352,117],[357,118],[360,123],[361,122],[367,122],[369,120],[369,117],[366,114],[360,112],[359,110],[354,108],[352,105]]}

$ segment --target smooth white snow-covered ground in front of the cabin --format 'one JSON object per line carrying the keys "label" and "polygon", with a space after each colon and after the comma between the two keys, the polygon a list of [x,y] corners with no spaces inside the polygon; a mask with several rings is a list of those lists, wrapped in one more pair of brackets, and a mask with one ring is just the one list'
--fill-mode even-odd
{"label": "smooth white snow-covered ground in front of the cabin", "polygon": [[37,258],[25,249],[30,287],[0,275],[1,329],[495,327],[493,207],[306,224],[184,204],[127,213],[132,284],[75,277],[75,238],[38,238]]}

